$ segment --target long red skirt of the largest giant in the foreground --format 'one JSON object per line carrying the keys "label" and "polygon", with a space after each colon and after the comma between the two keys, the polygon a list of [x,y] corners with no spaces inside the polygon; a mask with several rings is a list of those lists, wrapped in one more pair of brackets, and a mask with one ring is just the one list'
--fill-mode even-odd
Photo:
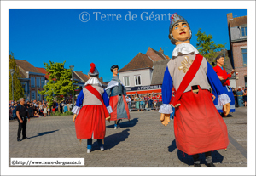
{"label": "long red skirt of the largest giant in the foreground", "polygon": [[225,149],[227,126],[215,108],[208,90],[186,92],[175,109],[174,133],[177,149],[189,155]]}

